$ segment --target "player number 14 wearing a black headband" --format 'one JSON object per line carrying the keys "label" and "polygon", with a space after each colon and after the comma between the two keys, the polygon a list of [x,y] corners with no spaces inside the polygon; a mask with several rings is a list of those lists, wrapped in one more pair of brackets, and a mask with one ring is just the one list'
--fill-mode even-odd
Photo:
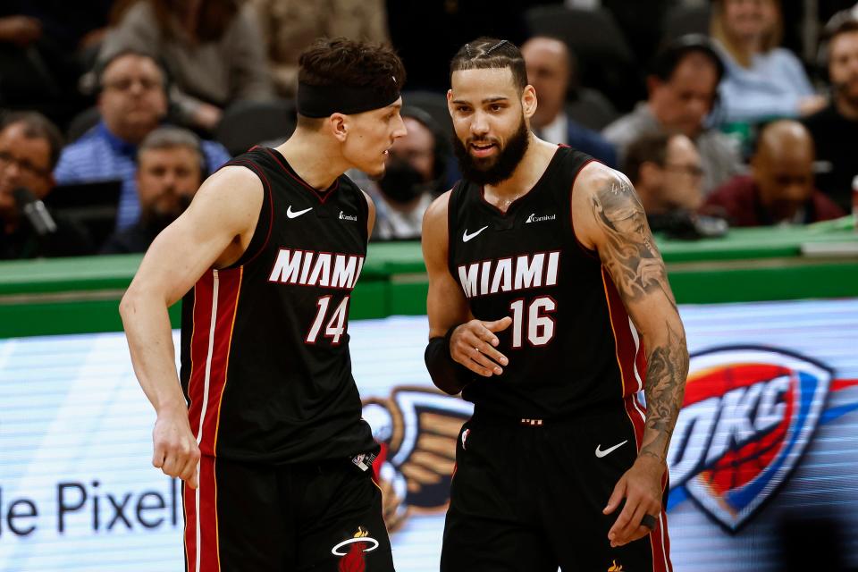
{"label": "player number 14 wearing a black headband", "polygon": [[383,174],[404,79],[387,47],[307,48],[290,139],[209,177],[122,298],[152,464],[185,481],[189,572],[393,570],[349,357],[374,206],[343,172]]}

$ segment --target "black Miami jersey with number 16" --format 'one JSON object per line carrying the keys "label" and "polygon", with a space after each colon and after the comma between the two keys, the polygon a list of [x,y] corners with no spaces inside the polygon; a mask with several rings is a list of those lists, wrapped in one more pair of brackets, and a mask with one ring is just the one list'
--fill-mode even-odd
{"label": "black Miami jersey with number 16", "polygon": [[572,227],[572,186],[590,156],[559,147],[507,212],[460,182],[449,203],[450,273],[481,320],[509,315],[500,376],[473,375],[462,396],[506,416],[552,418],[643,387],[644,351],[597,253]]}

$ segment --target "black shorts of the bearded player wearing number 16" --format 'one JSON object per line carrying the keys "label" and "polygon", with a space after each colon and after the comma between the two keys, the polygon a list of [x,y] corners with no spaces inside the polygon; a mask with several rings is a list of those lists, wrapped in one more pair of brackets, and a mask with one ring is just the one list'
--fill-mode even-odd
{"label": "black shorts of the bearded player wearing number 16", "polygon": [[618,548],[608,531],[621,507],[602,514],[643,433],[631,398],[554,422],[477,408],[459,433],[442,572],[670,572],[664,509],[651,534]]}

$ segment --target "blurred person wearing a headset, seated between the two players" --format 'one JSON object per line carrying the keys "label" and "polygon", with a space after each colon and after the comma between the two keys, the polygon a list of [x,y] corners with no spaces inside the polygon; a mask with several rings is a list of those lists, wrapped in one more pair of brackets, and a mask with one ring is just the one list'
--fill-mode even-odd
{"label": "blurred person wearing a headset, seated between the two players", "polygon": [[423,214],[447,190],[450,149],[441,128],[419,107],[404,107],[408,135],[393,142],[381,180],[366,191],[375,201],[372,240],[419,240]]}

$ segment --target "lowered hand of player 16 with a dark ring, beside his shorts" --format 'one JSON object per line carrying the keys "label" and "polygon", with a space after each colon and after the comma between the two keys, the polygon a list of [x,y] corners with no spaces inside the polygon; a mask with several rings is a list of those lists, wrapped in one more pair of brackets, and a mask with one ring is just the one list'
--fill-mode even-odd
{"label": "lowered hand of player 16 with a dark ring, beside his shorts", "polygon": [[622,546],[650,534],[652,527],[642,524],[646,515],[655,517],[654,526],[659,526],[661,477],[665,469],[664,461],[645,455],[638,457],[632,468],[619,478],[608,506],[602,510],[604,514],[610,515],[626,499],[626,505],[608,531],[611,547]]}

